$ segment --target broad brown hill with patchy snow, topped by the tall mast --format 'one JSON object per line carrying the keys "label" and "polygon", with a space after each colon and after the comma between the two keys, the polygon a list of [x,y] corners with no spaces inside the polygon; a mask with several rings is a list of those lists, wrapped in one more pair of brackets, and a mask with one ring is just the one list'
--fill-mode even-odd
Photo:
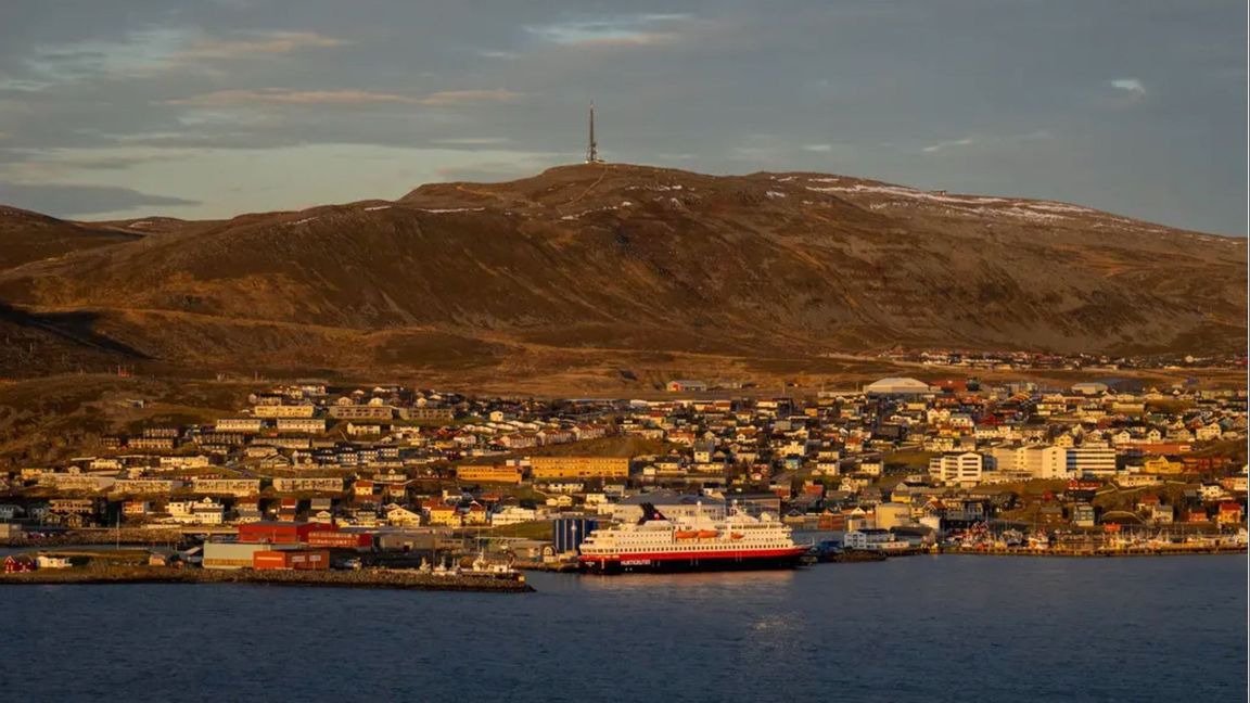
{"label": "broad brown hill with patchy snow, topped by the tall mast", "polygon": [[578,165],[160,229],[28,258],[0,300],[90,314],[164,363],[379,375],[895,345],[1208,353],[1246,330],[1244,239],[822,174]]}

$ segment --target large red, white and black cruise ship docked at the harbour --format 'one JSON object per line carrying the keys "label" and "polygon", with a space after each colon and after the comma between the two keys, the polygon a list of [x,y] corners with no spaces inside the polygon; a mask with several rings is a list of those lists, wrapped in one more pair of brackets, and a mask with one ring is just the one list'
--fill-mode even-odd
{"label": "large red, white and black cruise ship docked at the harbour", "polygon": [[790,528],[768,513],[670,520],[644,504],[638,523],[591,532],[578,559],[592,573],[710,572],[790,568],[806,552],[790,538]]}

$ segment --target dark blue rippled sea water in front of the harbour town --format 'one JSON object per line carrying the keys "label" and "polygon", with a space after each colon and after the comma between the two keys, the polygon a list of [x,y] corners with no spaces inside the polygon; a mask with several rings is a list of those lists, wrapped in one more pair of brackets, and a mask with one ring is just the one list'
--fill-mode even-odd
{"label": "dark blue rippled sea water in front of the harbour town", "polygon": [[0,588],[4,700],[1245,700],[1244,557]]}

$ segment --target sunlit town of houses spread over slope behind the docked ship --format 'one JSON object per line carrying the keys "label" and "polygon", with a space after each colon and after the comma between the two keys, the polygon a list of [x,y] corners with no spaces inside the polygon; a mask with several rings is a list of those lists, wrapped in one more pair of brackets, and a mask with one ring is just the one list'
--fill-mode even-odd
{"label": "sunlit town of houses spread over slope behind the docked ship", "polygon": [[799,398],[675,379],[650,400],[306,383],[4,469],[0,539],[194,539],[221,568],[272,543],[561,564],[644,509],[732,509],[834,552],[1244,548],[1245,445],[1244,389],[1131,380],[882,378]]}

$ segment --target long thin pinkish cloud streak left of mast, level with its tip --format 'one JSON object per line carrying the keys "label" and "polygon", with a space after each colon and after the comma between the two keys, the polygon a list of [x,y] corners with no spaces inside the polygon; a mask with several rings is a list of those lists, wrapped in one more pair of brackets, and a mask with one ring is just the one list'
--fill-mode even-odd
{"label": "long thin pinkish cloud streak left of mast, level with its tip", "polygon": [[444,90],[424,98],[399,93],[371,90],[286,90],[264,88],[259,90],[215,90],[190,98],[166,100],[166,105],[192,108],[222,108],[230,105],[365,105],[392,103],[402,105],[428,105],[441,108],[466,103],[506,103],[520,98],[511,90]]}

